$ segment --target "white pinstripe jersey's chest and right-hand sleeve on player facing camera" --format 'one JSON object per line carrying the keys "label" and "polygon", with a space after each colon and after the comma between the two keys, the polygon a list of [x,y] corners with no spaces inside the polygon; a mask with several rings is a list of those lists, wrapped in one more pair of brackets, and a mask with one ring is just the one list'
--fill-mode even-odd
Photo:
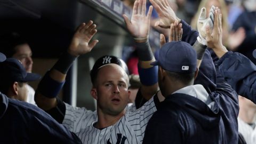
{"label": "white pinstripe jersey's chest and right-hand sleeve on player facing camera", "polygon": [[155,113],[154,97],[140,109],[127,111],[115,125],[99,130],[93,126],[76,133],[83,143],[126,144],[142,143],[149,119]]}

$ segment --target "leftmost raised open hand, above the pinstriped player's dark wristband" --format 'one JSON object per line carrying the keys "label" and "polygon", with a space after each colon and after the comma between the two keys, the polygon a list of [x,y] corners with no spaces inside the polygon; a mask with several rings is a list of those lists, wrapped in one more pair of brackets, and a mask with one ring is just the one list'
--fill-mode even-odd
{"label": "leftmost raised open hand, above the pinstriped player's dark wristband", "polygon": [[87,24],[82,23],[73,36],[73,39],[69,45],[68,52],[78,57],[81,54],[88,53],[99,42],[98,40],[92,41],[92,37],[97,33],[96,25],[90,20]]}

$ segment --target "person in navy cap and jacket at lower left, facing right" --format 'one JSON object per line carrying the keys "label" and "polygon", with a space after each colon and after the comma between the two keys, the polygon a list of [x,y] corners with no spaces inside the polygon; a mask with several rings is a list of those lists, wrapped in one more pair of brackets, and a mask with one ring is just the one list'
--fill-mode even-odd
{"label": "person in navy cap and jacket at lower left, facing right", "polygon": [[23,101],[26,82],[40,76],[27,73],[17,59],[5,59],[0,53],[0,143],[81,143],[45,111]]}

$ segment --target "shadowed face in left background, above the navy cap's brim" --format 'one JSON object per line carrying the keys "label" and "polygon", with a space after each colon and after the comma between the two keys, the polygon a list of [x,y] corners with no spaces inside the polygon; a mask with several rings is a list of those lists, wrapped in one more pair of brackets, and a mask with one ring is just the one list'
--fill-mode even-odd
{"label": "shadowed face in left background, above the navy cap's brim", "polygon": [[33,67],[33,60],[31,58],[32,52],[28,44],[20,44],[15,46],[16,53],[13,54],[13,58],[21,61],[28,73],[31,73]]}

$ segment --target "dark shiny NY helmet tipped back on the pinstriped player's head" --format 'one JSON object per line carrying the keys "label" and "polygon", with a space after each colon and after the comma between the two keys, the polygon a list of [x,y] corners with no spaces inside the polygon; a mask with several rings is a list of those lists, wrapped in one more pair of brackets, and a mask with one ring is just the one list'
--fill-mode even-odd
{"label": "dark shiny NY helmet tipped back on the pinstriped player's head", "polygon": [[98,74],[98,71],[99,69],[104,66],[104,65],[107,65],[109,63],[115,63],[116,65],[119,65],[120,67],[122,67],[125,71],[125,73],[127,75],[129,75],[129,70],[127,68],[127,65],[126,63],[120,59],[120,58],[117,58],[113,55],[104,55],[103,57],[100,57],[93,65],[93,68],[92,70],[90,71],[90,76],[91,76],[91,81],[92,83],[94,82],[97,74]]}

